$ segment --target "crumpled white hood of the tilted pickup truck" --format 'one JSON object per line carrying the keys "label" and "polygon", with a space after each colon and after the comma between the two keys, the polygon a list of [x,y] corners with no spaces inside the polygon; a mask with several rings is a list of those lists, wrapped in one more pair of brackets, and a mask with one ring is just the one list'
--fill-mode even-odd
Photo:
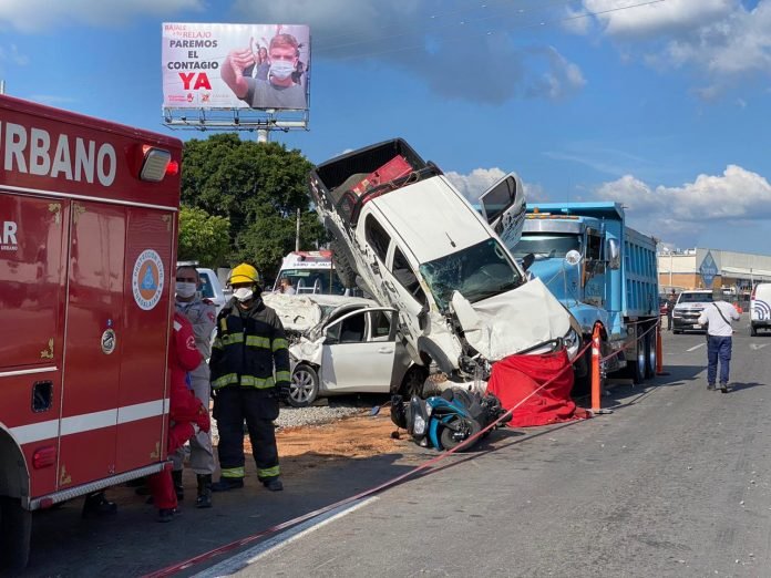
{"label": "crumpled white hood of the tilted pickup truck", "polygon": [[541,279],[473,305],[455,291],[452,308],[466,341],[489,361],[565,337],[570,329],[570,313]]}

